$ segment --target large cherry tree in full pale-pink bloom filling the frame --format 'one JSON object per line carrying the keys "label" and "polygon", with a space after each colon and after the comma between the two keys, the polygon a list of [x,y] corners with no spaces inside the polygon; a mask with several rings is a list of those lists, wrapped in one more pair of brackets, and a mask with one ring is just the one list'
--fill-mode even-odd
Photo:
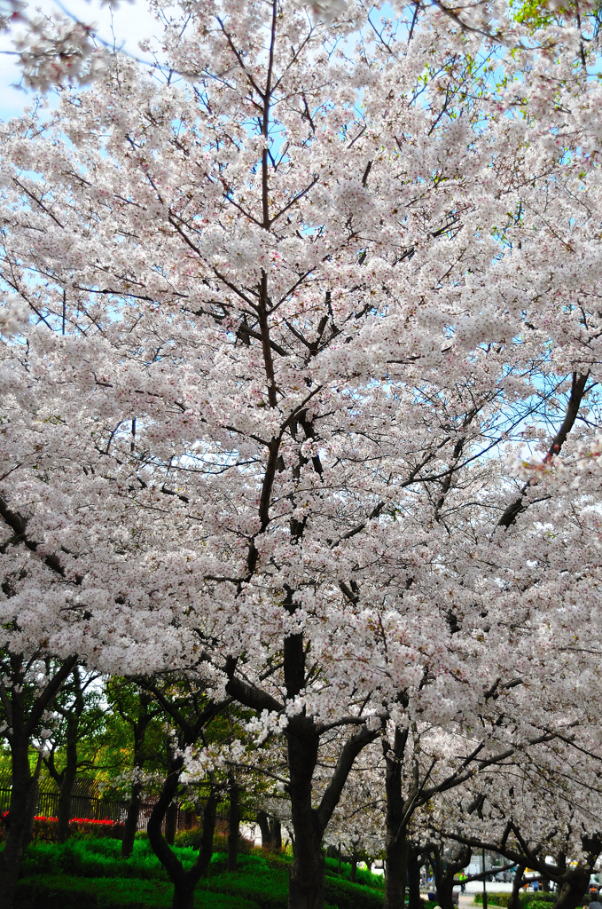
{"label": "large cherry tree in full pale-pink bloom filling the frame", "polygon": [[418,5],[161,9],[152,73],[116,57],[2,127],[5,646],[194,669],[283,736],[290,904],[320,909],[385,724],[527,676],[553,710],[597,614],[539,480],[595,411],[595,46],[503,57]]}

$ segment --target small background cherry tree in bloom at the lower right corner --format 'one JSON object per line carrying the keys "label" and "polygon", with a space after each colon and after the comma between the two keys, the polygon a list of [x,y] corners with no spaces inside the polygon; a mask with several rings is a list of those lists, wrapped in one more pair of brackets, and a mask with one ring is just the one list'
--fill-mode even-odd
{"label": "small background cherry tree in bloom at the lower right corner", "polygon": [[[557,739],[494,768],[464,799],[445,806],[439,832],[447,828],[443,835],[449,839],[498,852],[521,872],[528,866],[553,881],[555,906],[579,905],[602,851],[599,737],[588,732],[574,737],[569,748]],[[478,810],[467,814],[469,805]],[[433,815],[435,826],[441,816]]]}

